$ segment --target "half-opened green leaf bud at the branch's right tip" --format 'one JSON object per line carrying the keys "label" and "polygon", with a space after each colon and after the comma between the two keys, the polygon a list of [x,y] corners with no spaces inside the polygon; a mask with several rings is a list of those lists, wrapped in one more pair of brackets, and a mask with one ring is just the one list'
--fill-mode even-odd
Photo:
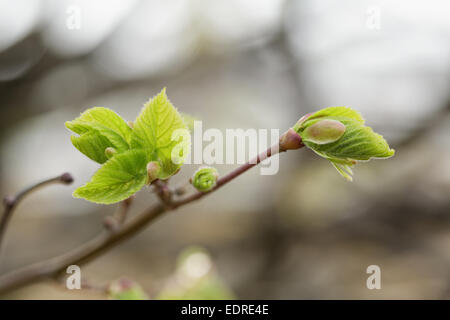
{"label": "half-opened green leaf bud at the branch's right tip", "polygon": [[330,160],[348,180],[352,180],[351,167],[357,160],[388,158],[395,153],[381,135],[364,125],[361,114],[347,107],[322,109],[300,119],[293,129],[307,147]]}

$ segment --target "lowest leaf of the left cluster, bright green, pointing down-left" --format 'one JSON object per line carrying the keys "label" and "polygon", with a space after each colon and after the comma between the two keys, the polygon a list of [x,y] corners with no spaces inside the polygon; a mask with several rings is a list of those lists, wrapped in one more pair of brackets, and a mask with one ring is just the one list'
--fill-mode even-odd
{"label": "lowest leaf of the left cluster, bright green, pointing down-left", "polygon": [[109,159],[91,181],[73,193],[75,198],[111,204],[122,201],[147,183],[148,159],[144,150],[128,150]]}

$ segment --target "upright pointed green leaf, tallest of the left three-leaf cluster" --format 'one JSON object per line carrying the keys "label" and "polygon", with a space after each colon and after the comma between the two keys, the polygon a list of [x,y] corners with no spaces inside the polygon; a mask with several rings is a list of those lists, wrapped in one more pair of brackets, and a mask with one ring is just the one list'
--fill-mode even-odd
{"label": "upright pointed green leaf, tallest of the left three-leaf cluster", "polygon": [[134,122],[131,147],[144,149],[151,161],[159,161],[158,178],[167,179],[181,167],[189,146],[187,126],[164,88],[145,104]]}

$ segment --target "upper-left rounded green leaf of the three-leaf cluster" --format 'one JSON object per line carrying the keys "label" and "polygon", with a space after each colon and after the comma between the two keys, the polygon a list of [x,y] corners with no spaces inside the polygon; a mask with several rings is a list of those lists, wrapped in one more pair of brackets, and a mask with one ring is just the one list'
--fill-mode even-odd
{"label": "upper-left rounded green leaf of the three-leaf cluster", "polygon": [[89,109],[66,127],[79,136],[72,136],[73,145],[90,159],[104,163],[105,149],[112,147],[118,153],[130,148],[131,128],[114,111],[96,107]]}

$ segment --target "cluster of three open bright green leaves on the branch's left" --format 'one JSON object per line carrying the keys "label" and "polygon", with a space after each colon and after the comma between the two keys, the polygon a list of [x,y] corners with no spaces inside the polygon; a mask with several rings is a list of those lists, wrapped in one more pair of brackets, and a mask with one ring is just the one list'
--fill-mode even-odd
{"label": "cluster of three open bright green leaves on the branch's left", "polygon": [[147,164],[160,170],[152,180],[167,179],[183,164],[190,147],[190,133],[163,89],[147,102],[133,128],[107,108],[92,108],[66,127],[78,136],[73,145],[90,159],[103,164],[91,181],[74,197],[110,204],[128,198],[151,182]]}

